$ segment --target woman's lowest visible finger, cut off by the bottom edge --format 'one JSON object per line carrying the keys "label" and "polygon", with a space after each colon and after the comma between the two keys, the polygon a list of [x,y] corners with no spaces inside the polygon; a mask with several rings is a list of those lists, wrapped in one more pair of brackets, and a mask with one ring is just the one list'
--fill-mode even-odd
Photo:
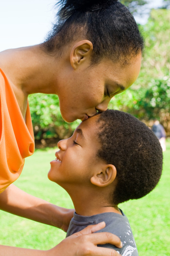
{"label": "woman's lowest visible finger, cut off by the bottom edge", "polygon": [[113,249],[104,248],[104,247],[95,247],[91,252],[88,252],[87,255],[95,256],[121,256],[118,252]]}

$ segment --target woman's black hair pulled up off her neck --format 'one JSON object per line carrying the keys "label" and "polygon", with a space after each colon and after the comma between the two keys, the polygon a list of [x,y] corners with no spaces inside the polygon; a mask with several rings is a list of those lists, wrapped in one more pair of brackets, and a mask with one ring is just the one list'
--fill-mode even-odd
{"label": "woman's black hair pulled up off her neck", "polygon": [[47,52],[62,49],[77,39],[93,44],[93,64],[103,57],[114,62],[142,52],[144,43],[134,17],[117,0],[60,0],[52,31],[44,47]]}

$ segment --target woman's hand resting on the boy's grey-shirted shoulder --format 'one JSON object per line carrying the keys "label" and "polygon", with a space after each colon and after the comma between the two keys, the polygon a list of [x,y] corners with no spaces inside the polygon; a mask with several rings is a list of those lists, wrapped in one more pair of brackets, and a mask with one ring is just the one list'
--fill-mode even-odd
{"label": "woman's hand resting on the boy's grey-shirted shoulder", "polygon": [[94,233],[104,227],[104,222],[88,226],[46,251],[46,256],[120,256],[115,250],[97,247],[97,244],[106,243],[114,244],[118,248],[122,247],[120,239],[114,234]]}

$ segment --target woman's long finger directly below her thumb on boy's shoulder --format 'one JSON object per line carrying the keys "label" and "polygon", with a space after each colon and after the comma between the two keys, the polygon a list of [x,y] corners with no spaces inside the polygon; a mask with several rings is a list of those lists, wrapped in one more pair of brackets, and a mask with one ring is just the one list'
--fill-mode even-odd
{"label": "woman's long finger directly below her thumb on boy's shoulder", "polygon": [[97,244],[113,244],[118,248],[122,248],[122,242],[120,241],[120,238],[116,235],[108,232],[102,232],[102,233],[93,233],[89,234],[89,241],[91,243],[97,245]]}

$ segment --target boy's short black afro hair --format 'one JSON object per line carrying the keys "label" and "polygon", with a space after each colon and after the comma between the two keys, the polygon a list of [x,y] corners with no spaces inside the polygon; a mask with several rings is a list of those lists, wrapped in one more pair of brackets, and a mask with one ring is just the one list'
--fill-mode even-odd
{"label": "boy's short black afro hair", "polygon": [[117,170],[113,203],[141,198],[157,185],[162,174],[163,153],[159,140],[136,117],[118,110],[99,114],[97,155]]}

